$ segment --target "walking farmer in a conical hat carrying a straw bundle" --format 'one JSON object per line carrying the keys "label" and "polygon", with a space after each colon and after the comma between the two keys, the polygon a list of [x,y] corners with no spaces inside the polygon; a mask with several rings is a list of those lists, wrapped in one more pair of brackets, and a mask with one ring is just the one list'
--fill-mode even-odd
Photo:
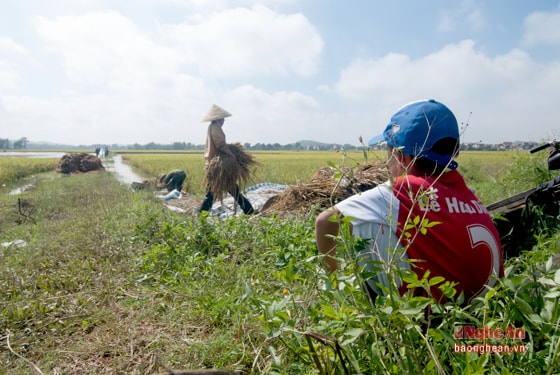
{"label": "walking farmer in a conical hat carrying a straw bundle", "polygon": [[214,198],[222,199],[227,192],[245,214],[252,214],[255,210],[251,202],[241,194],[237,183],[246,165],[240,164],[242,161],[238,160],[238,157],[232,152],[232,145],[226,143],[226,135],[222,129],[225,118],[229,116],[231,113],[213,104],[202,118],[202,122],[210,121],[210,125],[208,125],[204,148],[206,196],[199,212],[210,211]]}

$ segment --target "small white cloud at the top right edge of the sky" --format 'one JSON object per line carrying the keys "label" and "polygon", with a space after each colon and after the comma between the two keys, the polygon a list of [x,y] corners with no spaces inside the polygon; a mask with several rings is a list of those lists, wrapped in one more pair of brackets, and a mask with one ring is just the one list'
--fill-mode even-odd
{"label": "small white cloud at the top right edge of the sky", "polygon": [[548,44],[560,45],[560,11],[553,13],[535,12],[525,18],[526,45]]}

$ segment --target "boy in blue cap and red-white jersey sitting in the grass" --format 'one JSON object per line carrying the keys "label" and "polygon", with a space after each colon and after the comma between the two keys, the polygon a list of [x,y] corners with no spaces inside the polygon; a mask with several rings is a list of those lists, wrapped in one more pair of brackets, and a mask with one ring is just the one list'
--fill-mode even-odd
{"label": "boy in blue cap and red-white jersey sitting in the grass", "polygon": [[[391,288],[405,293],[406,283],[387,274],[397,264],[421,279],[441,276],[456,283],[464,303],[483,296],[503,276],[500,237],[484,205],[457,172],[459,127],[454,114],[435,100],[400,108],[383,134],[370,140],[387,143],[390,181],[354,195],[318,215],[317,247],[328,272],[338,268],[336,244],[342,217],[350,218],[352,234],[365,240],[357,260],[365,289],[375,300]],[[334,217],[333,217],[334,216]],[[401,274],[402,275],[402,274]],[[434,285],[429,293],[448,300]],[[425,295],[424,290],[414,290]]]}

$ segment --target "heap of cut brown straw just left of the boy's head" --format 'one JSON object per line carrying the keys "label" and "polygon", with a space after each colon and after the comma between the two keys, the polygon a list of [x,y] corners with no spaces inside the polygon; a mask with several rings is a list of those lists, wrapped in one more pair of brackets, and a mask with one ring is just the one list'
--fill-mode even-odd
{"label": "heap of cut brown straw just left of the boy's head", "polygon": [[306,183],[289,186],[267,202],[263,213],[306,214],[312,208],[326,209],[354,194],[389,179],[385,162],[375,161],[355,168],[345,167],[335,178],[331,167],[319,169]]}

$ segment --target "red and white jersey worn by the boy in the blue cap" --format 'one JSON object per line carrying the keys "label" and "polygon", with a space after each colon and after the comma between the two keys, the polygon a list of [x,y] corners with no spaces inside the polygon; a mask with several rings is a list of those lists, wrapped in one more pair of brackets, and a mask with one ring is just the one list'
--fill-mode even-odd
{"label": "red and white jersey worn by the boy in the blue cap", "polygon": [[[353,234],[368,240],[358,260],[375,275],[368,284],[378,294],[384,293],[377,283],[396,285],[401,293],[407,289],[398,275],[390,274],[395,283],[389,283],[387,271],[395,269],[389,263],[413,269],[419,279],[429,270],[430,278],[456,282],[457,295],[464,292],[467,302],[503,276],[498,231],[457,171],[397,177],[392,185],[354,195],[336,208],[352,218]],[[445,300],[437,285],[430,292],[437,301]]]}

